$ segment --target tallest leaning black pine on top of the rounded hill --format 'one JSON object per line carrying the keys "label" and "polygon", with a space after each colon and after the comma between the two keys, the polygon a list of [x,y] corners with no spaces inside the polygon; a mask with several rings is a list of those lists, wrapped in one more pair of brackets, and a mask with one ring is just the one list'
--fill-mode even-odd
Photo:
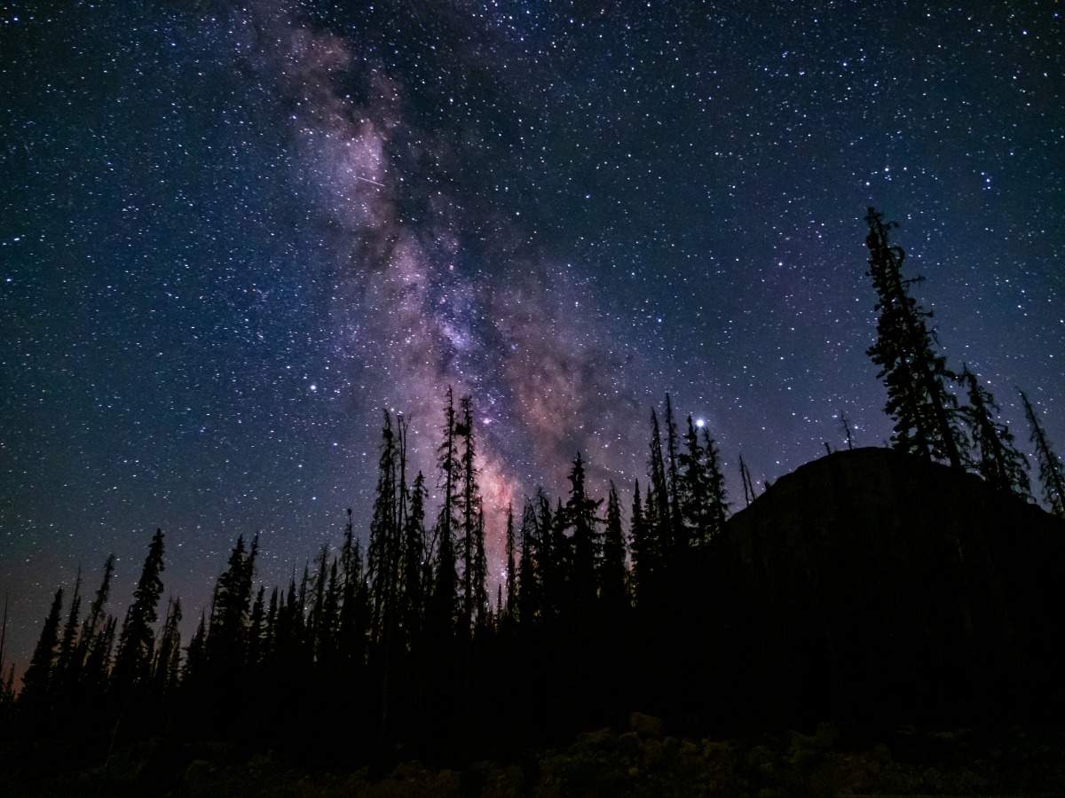
{"label": "tallest leaning black pine on top of the rounded hill", "polygon": [[900,451],[925,460],[947,460],[952,467],[962,468],[957,400],[946,386],[953,375],[947,370],[946,359],[935,353],[935,336],[925,325],[932,314],[910,296],[910,285],[923,278],[902,278],[905,252],[888,240],[888,232],[898,225],[885,225],[882,218],[871,207],[866,215],[868,275],[880,314],[876,343],[868,354],[880,366],[876,376],[887,388],[884,410],[895,419],[891,440]]}

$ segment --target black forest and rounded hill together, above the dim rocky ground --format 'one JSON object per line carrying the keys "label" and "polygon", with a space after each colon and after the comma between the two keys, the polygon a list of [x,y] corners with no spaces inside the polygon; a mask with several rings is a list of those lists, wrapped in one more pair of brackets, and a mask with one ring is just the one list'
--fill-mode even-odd
{"label": "black forest and rounded hill together, above the dim rocky ground", "polygon": [[761,495],[740,458],[734,514],[718,444],[667,394],[645,479],[595,497],[577,453],[564,496],[510,508],[493,592],[475,398],[447,388],[436,473],[410,472],[408,421],[382,413],[365,547],[347,510],[338,551],[265,585],[258,536],[237,537],[187,642],[163,530],[120,619],[113,556],[92,596],[80,573],[56,589],[20,688],[0,644],[4,764],[98,766],[154,739],[386,772],[633,711],[720,735],[1060,721],[1065,468],[1021,392],[1043,510],[995,398],[937,352],[895,226],[866,221],[888,448],[853,448],[841,416],[847,450]]}

